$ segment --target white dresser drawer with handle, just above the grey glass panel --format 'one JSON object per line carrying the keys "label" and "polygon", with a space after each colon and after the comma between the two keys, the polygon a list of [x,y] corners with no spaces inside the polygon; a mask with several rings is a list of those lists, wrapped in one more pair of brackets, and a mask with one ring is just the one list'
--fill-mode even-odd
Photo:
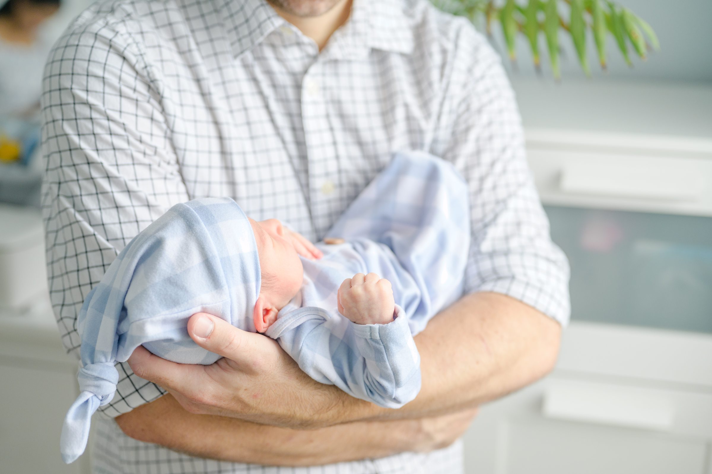
{"label": "white dresser drawer with handle, just above the grey glass panel", "polygon": [[712,155],[529,145],[545,204],[712,216]]}

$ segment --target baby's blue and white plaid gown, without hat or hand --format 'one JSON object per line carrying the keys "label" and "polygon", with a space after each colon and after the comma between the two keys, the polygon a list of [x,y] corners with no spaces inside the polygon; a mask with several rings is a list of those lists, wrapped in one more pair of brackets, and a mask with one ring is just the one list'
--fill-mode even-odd
{"label": "baby's blue and white plaid gown, without hat or hand", "polygon": [[[420,390],[413,334],[459,299],[469,247],[466,182],[426,153],[396,153],[319,243],[324,257],[302,259],[302,291],[266,332],[316,381],[398,408]],[[337,290],[354,274],[391,282],[397,317],[354,324],[337,310]]]}

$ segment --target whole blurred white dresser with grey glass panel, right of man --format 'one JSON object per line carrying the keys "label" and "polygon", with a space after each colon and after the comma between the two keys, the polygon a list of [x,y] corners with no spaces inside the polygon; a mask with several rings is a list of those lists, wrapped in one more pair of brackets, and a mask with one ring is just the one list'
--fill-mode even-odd
{"label": "whole blurred white dresser with grey glass panel, right of man", "polygon": [[572,323],[482,407],[466,472],[712,474],[712,86],[514,86]]}

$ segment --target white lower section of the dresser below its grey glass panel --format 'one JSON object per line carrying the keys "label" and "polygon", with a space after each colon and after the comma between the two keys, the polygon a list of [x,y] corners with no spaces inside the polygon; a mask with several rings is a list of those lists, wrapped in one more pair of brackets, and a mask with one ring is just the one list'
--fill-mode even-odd
{"label": "white lower section of the dresser below its grey glass panel", "polygon": [[710,474],[712,336],[574,322],[557,369],[464,442],[468,474]]}

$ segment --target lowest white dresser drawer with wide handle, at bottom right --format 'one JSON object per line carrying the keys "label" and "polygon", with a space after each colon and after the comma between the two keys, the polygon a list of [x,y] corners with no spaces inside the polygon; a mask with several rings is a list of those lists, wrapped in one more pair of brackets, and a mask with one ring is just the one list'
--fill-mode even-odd
{"label": "lowest white dresser drawer with wide handle, at bottom right", "polygon": [[712,393],[557,371],[481,408],[466,473],[707,474]]}

